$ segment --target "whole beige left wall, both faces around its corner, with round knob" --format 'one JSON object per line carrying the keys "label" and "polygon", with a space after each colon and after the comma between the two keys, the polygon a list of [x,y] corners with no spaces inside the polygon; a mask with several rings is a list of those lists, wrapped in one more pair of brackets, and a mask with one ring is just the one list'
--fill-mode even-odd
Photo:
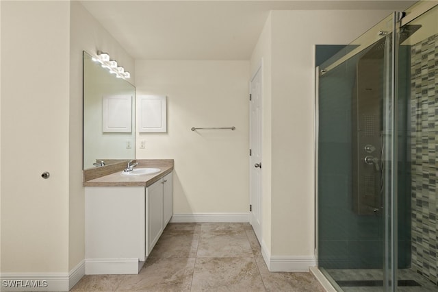
{"label": "whole beige left wall, both faces around its corner, with round knob", "polygon": [[[1,272],[84,258],[82,51],[134,61],[77,1],[1,1]],[[41,173],[49,171],[49,180]]]}

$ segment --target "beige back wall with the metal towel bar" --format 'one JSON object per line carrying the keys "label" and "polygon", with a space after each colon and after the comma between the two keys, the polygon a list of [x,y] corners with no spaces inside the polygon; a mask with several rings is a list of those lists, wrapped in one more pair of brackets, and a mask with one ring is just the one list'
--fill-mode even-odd
{"label": "beige back wall with the metal towel bar", "polygon": [[137,95],[168,108],[168,132],[138,134],[136,158],[175,159],[175,214],[248,212],[249,78],[248,61],[136,62]]}

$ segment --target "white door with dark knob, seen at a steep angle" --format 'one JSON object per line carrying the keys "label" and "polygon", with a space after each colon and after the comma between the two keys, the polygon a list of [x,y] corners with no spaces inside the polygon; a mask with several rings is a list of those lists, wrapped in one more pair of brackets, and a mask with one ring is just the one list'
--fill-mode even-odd
{"label": "white door with dark knob, seen at a steep angle", "polygon": [[250,223],[261,243],[261,66],[250,84]]}

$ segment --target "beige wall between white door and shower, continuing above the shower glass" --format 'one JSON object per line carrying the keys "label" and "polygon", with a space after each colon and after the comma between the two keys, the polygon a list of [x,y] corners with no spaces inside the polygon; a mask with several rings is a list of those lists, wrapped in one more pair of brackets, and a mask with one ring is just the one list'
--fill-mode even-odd
{"label": "beige wall between white door and shower, continuing above the shower glass", "polygon": [[[263,118],[272,117],[263,121],[263,138],[270,141],[270,147],[263,141],[263,184],[269,184],[263,186],[263,203],[270,199],[263,206],[270,215],[268,224],[263,223],[268,228],[263,241],[271,256],[314,254],[315,45],[347,44],[387,14],[363,10],[270,14],[251,68],[261,58],[270,60],[263,71],[263,111],[268,111]],[[267,170],[269,162],[264,161],[269,157]]]}

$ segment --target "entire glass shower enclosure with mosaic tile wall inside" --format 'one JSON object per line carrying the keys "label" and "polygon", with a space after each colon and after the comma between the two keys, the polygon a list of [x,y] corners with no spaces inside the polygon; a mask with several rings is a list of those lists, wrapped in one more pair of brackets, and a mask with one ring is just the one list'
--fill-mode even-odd
{"label": "entire glass shower enclosure with mosaic tile wall inside", "polygon": [[438,291],[438,6],[317,68],[318,268],[338,291]]}

